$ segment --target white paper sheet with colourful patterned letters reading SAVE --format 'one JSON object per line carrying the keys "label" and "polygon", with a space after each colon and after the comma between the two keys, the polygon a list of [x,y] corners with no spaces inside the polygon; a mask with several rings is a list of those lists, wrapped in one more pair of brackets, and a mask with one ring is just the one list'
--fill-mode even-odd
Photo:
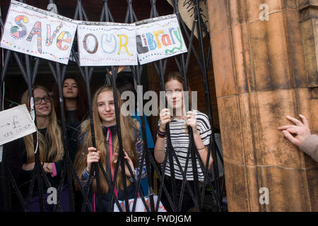
{"label": "white paper sheet with colourful patterned letters reading SAVE", "polygon": [[11,1],[0,47],[68,64],[77,22]]}

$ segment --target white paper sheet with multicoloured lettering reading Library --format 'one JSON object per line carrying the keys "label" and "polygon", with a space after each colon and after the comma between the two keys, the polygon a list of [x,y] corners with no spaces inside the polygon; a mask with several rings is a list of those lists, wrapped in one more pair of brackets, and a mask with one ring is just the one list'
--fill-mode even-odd
{"label": "white paper sheet with multicoloured lettering reading Library", "polygon": [[140,64],[187,52],[175,14],[137,22],[136,42]]}

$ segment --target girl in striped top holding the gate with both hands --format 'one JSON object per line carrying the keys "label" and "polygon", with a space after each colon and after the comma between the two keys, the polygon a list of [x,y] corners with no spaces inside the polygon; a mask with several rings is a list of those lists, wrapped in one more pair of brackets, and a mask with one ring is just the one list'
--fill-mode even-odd
{"label": "girl in striped top holding the gate with both hands", "polygon": [[[208,169],[211,168],[213,159],[210,155],[209,162],[208,159],[208,145],[210,143],[210,135],[211,135],[211,126],[208,121],[208,117],[206,114],[201,113],[197,110],[192,110],[186,112],[185,110],[185,101],[184,101],[184,89],[183,89],[183,79],[180,73],[169,73],[165,76],[165,96],[167,99],[167,105],[170,110],[165,108],[160,112],[160,120],[158,122],[158,134],[157,141],[155,142],[155,160],[158,163],[163,163],[165,160],[166,148],[167,148],[167,138],[165,126],[167,123],[170,124],[170,137],[171,143],[173,147],[173,151],[175,152],[177,159],[179,160],[179,164],[182,167],[182,171],[179,169],[179,165],[177,164],[177,160],[173,157],[173,166],[175,169],[175,181],[176,181],[176,209],[179,203],[179,196],[181,192],[183,175],[182,172],[186,170],[186,179],[189,182],[190,187],[192,188],[192,192],[194,192],[194,174],[193,167],[191,161],[191,154],[189,155],[189,161],[187,165],[187,169],[185,169],[187,154],[189,149],[189,133],[187,126],[192,127],[193,135],[194,135],[194,145],[196,145],[197,150],[199,151],[199,155],[201,160],[204,163],[205,167]],[[191,97],[191,90],[189,89],[189,97]],[[189,101],[191,102],[191,101]],[[163,164],[162,164],[163,167]],[[204,174],[201,166],[199,164],[199,160],[196,158],[196,167],[198,172],[199,182],[203,182]],[[167,164],[165,165],[165,186],[167,187],[168,193],[172,196],[172,186],[171,186],[171,172],[170,172],[170,162],[169,158],[167,158]],[[167,201],[167,196],[163,192],[163,196],[161,198],[163,201],[163,205],[167,209],[167,211],[171,211],[172,208],[170,203]],[[182,199],[182,208],[181,211],[187,211],[194,207],[194,202],[192,201],[192,197],[189,194],[189,190],[187,186],[184,189],[184,195]]]}

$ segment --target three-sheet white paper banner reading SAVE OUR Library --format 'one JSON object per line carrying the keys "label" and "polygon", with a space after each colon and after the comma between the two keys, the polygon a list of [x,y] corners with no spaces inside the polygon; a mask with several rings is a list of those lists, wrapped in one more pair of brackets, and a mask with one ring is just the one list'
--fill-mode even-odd
{"label": "three-sheet white paper banner reading SAVE OUR Library", "polygon": [[0,47],[68,64],[76,29],[80,66],[147,64],[187,52],[175,14],[136,23],[86,22],[13,0]]}

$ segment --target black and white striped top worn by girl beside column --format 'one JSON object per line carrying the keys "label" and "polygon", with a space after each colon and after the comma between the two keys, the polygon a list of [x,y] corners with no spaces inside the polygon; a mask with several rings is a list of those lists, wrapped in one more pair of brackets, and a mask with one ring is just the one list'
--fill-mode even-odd
{"label": "black and white striped top worn by girl beside column", "polygon": [[[204,145],[208,145],[210,143],[210,136],[211,136],[211,126],[210,122],[208,121],[208,117],[206,114],[196,111],[196,129],[198,129],[202,142]],[[160,121],[158,122],[158,125],[160,125]],[[182,167],[182,172],[184,172],[184,167],[186,165],[187,160],[187,153],[189,148],[189,133],[186,133],[185,131],[185,121],[184,119],[172,119],[170,122],[170,137],[171,137],[171,143],[172,147],[175,151],[175,154],[178,157],[179,163]],[[194,144],[195,145],[195,144]],[[167,137],[165,138],[165,153],[167,154]],[[191,160],[191,154],[189,155],[189,161],[187,165],[187,180],[192,181],[194,180],[193,176],[193,169],[192,169],[192,160]],[[182,172],[179,169],[179,166],[177,164],[177,161],[175,160],[175,157],[173,157],[174,167],[175,167],[175,178],[176,179],[183,179],[182,178]],[[199,164],[199,160],[196,158],[196,166],[198,169],[198,178],[199,181],[204,180],[204,172],[201,169],[201,166]],[[161,167],[163,167],[163,164],[161,164]],[[165,175],[170,175],[170,163],[169,158],[167,157],[167,164],[165,166]]]}

